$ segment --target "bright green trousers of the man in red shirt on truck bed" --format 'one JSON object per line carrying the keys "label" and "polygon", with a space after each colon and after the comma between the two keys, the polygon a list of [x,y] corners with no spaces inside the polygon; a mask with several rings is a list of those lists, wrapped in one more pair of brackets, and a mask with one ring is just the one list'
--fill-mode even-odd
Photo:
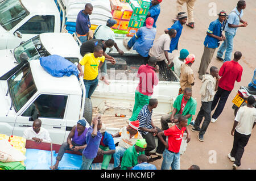
{"label": "bright green trousers of the man in red shirt on truck bed", "polygon": [[134,107],[133,107],[133,115],[129,119],[130,121],[136,121],[137,117],[139,115],[139,112],[141,111],[142,107],[146,104],[149,104],[151,96],[148,95],[143,95],[139,91],[135,91],[135,102],[134,102]]}

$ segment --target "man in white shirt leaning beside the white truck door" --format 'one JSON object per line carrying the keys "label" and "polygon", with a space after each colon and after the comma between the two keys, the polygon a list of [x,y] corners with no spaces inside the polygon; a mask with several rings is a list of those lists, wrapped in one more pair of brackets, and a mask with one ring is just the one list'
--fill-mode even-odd
{"label": "man in white shirt leaning beside the white truck door", "polygon": [[51,142],[49,137],[49,132],[41,127],[42,121],[40,119],[35,119],[32,127],[24,130],[23,137],[26,139],[34,140],[37,143],[42,141]]}

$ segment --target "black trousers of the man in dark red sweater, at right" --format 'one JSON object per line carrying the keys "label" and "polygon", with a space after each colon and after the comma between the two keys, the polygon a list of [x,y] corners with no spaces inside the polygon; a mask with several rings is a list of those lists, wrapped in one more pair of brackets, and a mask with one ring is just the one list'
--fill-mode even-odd
{"label": "black trousers of the man in dark red sweater, at right", "polygon": [[213,102],[212,102],[212,110],[214,110],[214,108],[218,103],[218,106],[212,115],[214,119],[217,119],[218,116],[220,116],[221,112],[223,111],[226,104],[226,100],[228,99],[230,92],[231,91],[227,91],[218,87],[218,90],[214,95]]}

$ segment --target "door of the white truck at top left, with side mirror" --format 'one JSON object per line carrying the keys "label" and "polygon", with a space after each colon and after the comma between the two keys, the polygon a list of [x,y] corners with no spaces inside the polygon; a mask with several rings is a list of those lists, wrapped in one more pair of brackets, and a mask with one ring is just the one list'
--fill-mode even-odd
{"label": "door of the white truck at top left, with side mirror", "polygon": [[28,19],[15,30],[10,31],[11,35],[7,43],[7,49],[18,47],[20,42],[27,41],[40,33],[54,32],[55,16],[54,15],[36,15]]}

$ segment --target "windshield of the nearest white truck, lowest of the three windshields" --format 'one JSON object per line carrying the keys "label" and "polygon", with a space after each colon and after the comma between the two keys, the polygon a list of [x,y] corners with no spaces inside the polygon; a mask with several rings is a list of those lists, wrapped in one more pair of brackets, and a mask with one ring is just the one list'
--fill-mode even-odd
{"label": "windshield of the nearest white truck, lowest of the three windshields", "polygon": [[24,65],[10,77],[8,86],[14,110],[18,112],[37,91],[30,66]]}

